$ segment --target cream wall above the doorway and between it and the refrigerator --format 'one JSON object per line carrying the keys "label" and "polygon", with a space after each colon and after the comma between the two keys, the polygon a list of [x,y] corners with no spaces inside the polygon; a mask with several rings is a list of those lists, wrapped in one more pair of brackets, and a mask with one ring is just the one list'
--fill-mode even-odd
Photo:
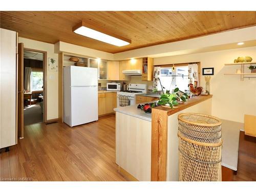
{"label": "cream wall above the doorway and between it and the refrigerator", "polygon": [[23,42],[24,48],[47,51],[47,120],[58,118],[58,72],[48,70],[48,58],[58,59],[54,45],[22,37],[18,38],[18,42]]}

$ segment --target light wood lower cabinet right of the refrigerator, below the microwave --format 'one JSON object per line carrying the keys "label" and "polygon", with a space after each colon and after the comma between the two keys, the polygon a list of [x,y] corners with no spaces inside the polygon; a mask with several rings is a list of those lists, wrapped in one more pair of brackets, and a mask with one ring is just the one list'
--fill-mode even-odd
{"label": "light wood lower cabinet right of the refrigerator, below the microwave", "polygon": [[98,94],[98,115],[114,113],[116,108],[116,93],[99,93]]}

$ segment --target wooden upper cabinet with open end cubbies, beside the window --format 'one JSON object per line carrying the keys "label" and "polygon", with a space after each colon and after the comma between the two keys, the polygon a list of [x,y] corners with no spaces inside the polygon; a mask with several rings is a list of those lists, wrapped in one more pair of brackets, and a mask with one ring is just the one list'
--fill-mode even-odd
{"label": "wooden upper cabinet with open end cubbies, beside the window", "polygon": [[153,80],[153,73],[154,73],[153,62],[154,62],[153,58],[150,58],[150,57],[142,58],[142,80],[143,81]]}

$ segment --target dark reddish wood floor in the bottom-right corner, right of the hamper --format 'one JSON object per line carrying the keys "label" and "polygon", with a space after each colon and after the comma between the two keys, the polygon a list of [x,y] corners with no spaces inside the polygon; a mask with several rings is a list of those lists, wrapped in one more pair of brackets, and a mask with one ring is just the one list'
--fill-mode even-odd
{"label": "dark reddish wood floor in the bottom-right corner, right of the hamper", "polygon": [[238,170],[234,181],[256,181],[256,138],[240,132]]}

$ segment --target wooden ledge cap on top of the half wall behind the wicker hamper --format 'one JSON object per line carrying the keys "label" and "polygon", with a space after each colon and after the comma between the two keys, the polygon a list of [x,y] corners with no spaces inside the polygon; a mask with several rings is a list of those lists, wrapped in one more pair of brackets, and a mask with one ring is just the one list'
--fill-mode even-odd
{"label": "wooden ledge cap on top of the half wall behind the wicker hamper", "polygon": [[200,102],[203,102],[203,101],[205,101],[207,99],[210,99],[210,98],[212,98],[212,95],[206,95],[206,96],[200,95],[200,96],[188,99],[188,101],[184,104],[179,104],[178,108],[170,109],[170,108],[164,108],[163,106],[157,106],[156,109],[166,111],[168,113],[168,116],[169,116],[169,115],[173,115],[175,113],[178,113],[179,111],[182,111],[186,108],[189,108],[189,106],[196,105],[196,104],[198,104]]}

